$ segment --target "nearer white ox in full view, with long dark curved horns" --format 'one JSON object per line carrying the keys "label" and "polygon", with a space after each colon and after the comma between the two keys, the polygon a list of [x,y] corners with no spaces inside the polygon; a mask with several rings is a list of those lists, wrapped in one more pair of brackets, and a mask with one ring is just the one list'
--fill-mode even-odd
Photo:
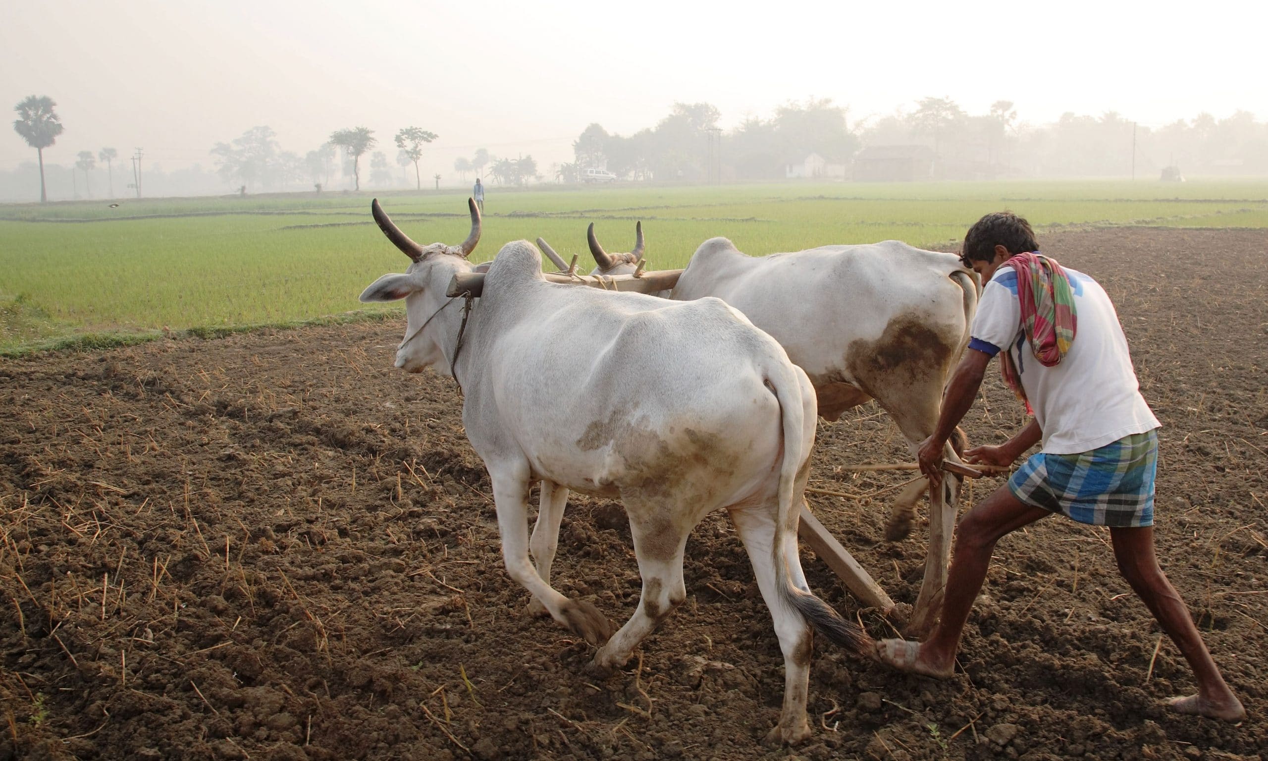
{"label": "nearer white ox in full view, with long dark curved horns", "polygon": [[[463,303],[445,292],[454,274],[473,270],[465,256],[479,217],[470,209],[465,244],[420,246],[374,202],[379,227],[413,264],[360,298],[406,299],[396,367],[430,365],[460,382],[463,424],[492,479],[507,572],[555,621],[590,643],[606,639],[593,660],[606,672],[682,602],[687,534],[708,512],[728,510],[784,652],[784,706],[768,739],[805,738],[808,621],[853,652],[871,652],[865,633],[809,591],[798,558],[815,433],[805,373],[719,299],[680,304],[548,283],[526,241],[498,252],[463,331]],[[588,393],[562,407],[553,389],[578,382]],[[530,542],[529,487],[538,479],[541,510]],[[629,515],[643,592],[615,634],[592,605],[549,583],[569,488],[619,497]]]}

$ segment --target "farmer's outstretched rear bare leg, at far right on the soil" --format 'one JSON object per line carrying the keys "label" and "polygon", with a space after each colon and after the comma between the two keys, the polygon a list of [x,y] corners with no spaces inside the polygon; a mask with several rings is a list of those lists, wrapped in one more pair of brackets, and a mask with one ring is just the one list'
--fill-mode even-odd
{"label": "farmer's outstretched rear bare leg, at far right on the soil", "polygon": [[1112,528],[1113,556],[1118,572],[1154,614],[1163,630],[1188,661],[1197,680],[1197,695],[1173,699],[1169,705],[1181,713],[1212,719],[1240,720],[1246,715],[1241,703],[1224,682],[1219,667],[1202,642],[1202,635],[1179,592],[1167,580],[1154,554],[1154,528]]}

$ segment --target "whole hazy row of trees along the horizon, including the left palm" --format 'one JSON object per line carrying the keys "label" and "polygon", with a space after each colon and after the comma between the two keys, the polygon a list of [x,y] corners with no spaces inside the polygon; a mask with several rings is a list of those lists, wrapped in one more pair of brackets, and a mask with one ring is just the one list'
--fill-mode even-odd
{"label": "whole hazy row of trees along the horizon, including the left palm", "polygon": [[[30,95],[14,110],[14,131],[36,150],[37,164],[0,171],[0,195],[16,198],[16,188],[32,188],[38,174],[41,200],[48,186],[60,197],[96,194],[94,178],[105,164],[109,197],[115,194],[115,148],[76,153],[70,166],[44,165],[44,150],[63,132],[57,103]],[[847,122],[848,110],[829,99],[789,101],[770,118],[749,117],[729,131],[718,127],[720,114],[709,103],[676,103],[670,113],[633,134],[609,133],[601,124],[586,127],[573,142],[573,161],[553,165],[543,176],[533,156],[498,157],[486,148],[454,161],[465,183],[469,174],[486,181],[524,185],[539,180],[576,183],[587,169],[606,169],[629,180],[734,181],[800,176],[839,179],[1002,179],[1042,176],[1158,178],[1189,175],[1268,175],[1268,123],[1248,112],[1216,119],[1202,113],[1163,127],[1134,124],[1116,112],[1101,115],[1063,114],[1046,124],[1018,118],[1013,104],[999,100],[987,113],[970,114],[950,98],[924,98],[914,108]],[[422,188],[418,166],[425,147],[437,140],[421,127],[401,128],[393,142],[399,181],[387,153],[370,153],[369,183],[387,188],[408,183]],[[378,145],[366,127],[336,129],[303,156],[284,151],[266,126],[210,150],[216,175],[235,189],[294,190],[331,188],[332,178],[361,185],[361,157]],[[342,162],[339,161],[342,155]],[[133,157],[133,181],[139,194],[139,156]],[[47,175],[47,176],[46,176]],[[212,180],[202,166],[165,172],[152,166],[145,175],[151,194],[205,193]],[[82,179],[82,185],[80,180]],[[439,186],[439,176],[434,178]],[[67,181],[68,180],[68,181]],[[99,180],[96,180],[99,181]],[[13,189],[10,189],[13,188]],[[82,189],[81,189],[82,188]],[[23,190],[22,193],[25,193]]]}

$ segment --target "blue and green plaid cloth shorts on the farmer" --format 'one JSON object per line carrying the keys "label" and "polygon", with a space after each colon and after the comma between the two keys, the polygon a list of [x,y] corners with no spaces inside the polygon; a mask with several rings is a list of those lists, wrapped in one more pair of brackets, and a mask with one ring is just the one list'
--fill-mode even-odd
{"label": "blue and green plaid cloth shorts on the farmer", "polygon": [[1008,479],[1026,505],[1094,526],[1154,525],[1158,430],[1123,436],[1092,452],[1032,455]]}

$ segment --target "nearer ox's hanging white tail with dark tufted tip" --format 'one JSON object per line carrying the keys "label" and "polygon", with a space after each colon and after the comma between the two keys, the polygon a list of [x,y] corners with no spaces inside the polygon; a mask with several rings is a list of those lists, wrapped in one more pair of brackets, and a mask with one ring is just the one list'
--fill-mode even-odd
{"label": "nearer ox's hanging white tail with dark tufted tip", "polygon": [[791,364],[785,364],[782,372],[771,373],[767,384],[779,400],[784,427],[784,462],[780,465],[779,512],[772,547],[775,557],[771,558],[775,586],[781,600],[820,634],[850,652],[869,653],[872,649],[871,638],[810,591],[798,556],[798,525],[817,422],[814,388],[805,372]]}

